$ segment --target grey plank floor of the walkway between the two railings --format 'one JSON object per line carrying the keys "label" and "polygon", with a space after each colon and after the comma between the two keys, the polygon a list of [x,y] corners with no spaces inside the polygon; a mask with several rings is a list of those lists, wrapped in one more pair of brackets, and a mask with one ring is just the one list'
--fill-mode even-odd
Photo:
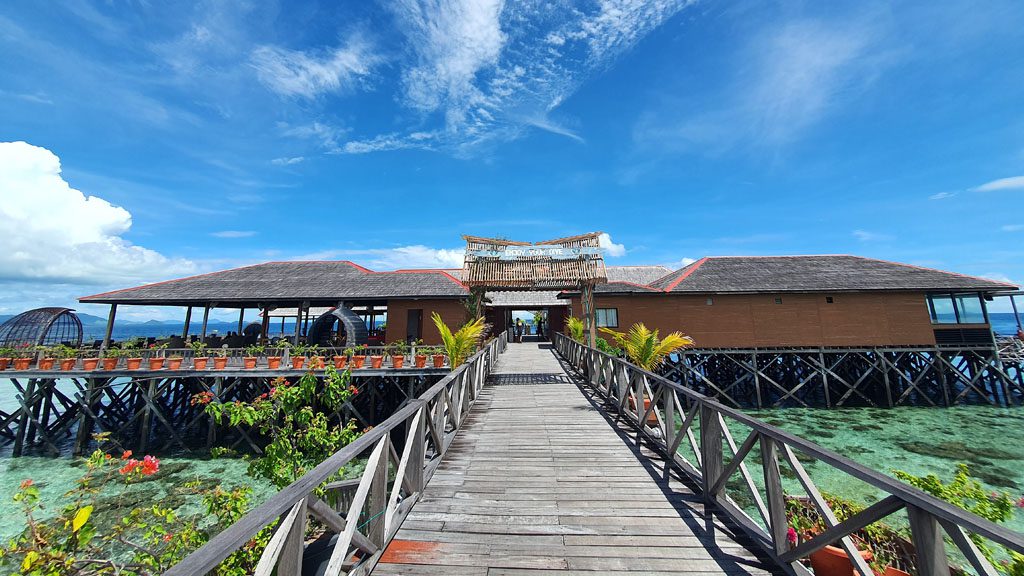
{"label": "grey plank floor of the walkway between the two railings", "polygon": [[375,575],[781,573],[638,454],[549,344],[510,344],[468,418]]}

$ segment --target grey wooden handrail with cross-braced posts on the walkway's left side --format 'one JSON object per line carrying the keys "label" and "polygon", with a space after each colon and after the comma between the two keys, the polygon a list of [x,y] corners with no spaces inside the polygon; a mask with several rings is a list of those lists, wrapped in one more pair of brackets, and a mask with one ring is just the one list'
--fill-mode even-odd
{"label": "grey wooden handrail with cross-braced posts on the walkway's left side", "polygon": [[[503,333],[481,346],[465,364],[453,370],[418,399],[410,401],[384,422],[360,436],[355,442],[335,452],[305,476],[253,508],[165,574],[167,576],[195,576],[210,572],[224,559],[245,545],[265,526],[306,501],[317,487],[336,475],[348,462],[371,449],[374,450],[379,465],[367,466],[364,471],[359,481],[359,489],[352,500],[349,516],[352,515],[353,510],[361,509],[367,498],[378,503],[383,502],[381,507],[386,513],[384,518],[380,519],[380,526],[386,527],[386,531],[380,529],[375,531],[374,528],[377,524],[371,521],[367,522],[371,525],[368,531],[372,533],[366,536],[370,538],[378,551],[370,556],[369,559],[365,559],[359,566],[364,567],[367,561],[376,563],[387,541],[398,530],[409,508],[419,499],[420,491],[447,450],[455,433],[463,423],[465,412],[475,401],[493,369],[494,362],[498,355],[505,351],[507,343],[507,337]],[[394,481],[392,492],[386,494],[383,492],[386,492],[387,489],[389,469],[387,464],[392,459],[392,452],[386,449],[390,442],[390,434],[398,429],[404,433],[406,426],[410,427],[409,440],[406,442],[400,456],[400,461],[406,464],[401,466],[399,462],[395,462],[395,467],[401,468],[399,471],[410,478],[403,479],[398,475]],[[427,458],[426,455],[427,448],[432,449],[430,458]],[[408,490],[410,485],[413,486],[412,492]],[[305,510],[305,506],[300,507]],[[345,549],[336,548],[333,556],[347,562],[351,556],[348,551],[349,541],[353,540],[351,537],[357,536],[355,539],[358,540],[366,540],[366,538],[358,532],[359,526],[354,525],[357,518],[345,520],[343,538],[339,538],[339,542],[344,540],[341,547]],[[294,524],[293,522],[283,526],[290,530]],[[304,523],[302,524],[304,525]],[[374,541],[375,539],[377,541]],[[273,559],[273,562],[268,560],[263,564],[278,565],[282,568],[286,565],[281,563],[287,563],[289,567],[295,566],[295,556],[298,554],[298,560],[301,561],[302,551],[302,546],[276,548],[270,550],[269,553],[278,553],[279,558]],[[332,563],[331,568],[340,570],[341,566],[341,563]],[[287,571],[287,573],[291,574],[292,572]],[[337,573],[334,572],[334,574]],[[329,571],[329,574],[332,572]]]}

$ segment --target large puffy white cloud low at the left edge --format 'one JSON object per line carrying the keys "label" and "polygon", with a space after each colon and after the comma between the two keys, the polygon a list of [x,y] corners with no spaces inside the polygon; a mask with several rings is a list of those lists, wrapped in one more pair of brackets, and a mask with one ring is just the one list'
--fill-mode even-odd
{"label": "large puffy white cloud low at the left edge", "polygon": [[124,208],[73,189],[45,148],[0,142],[0,277],[75,284],[146,282],[196,265],[135,246]]}

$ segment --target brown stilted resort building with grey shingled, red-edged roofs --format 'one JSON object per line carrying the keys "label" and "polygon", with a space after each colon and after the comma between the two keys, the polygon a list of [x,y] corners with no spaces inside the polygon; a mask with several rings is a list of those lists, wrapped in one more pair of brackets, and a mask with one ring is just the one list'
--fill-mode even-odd
{"label": "brown stilted resort building with grey shingled, red-edged roofs", "polygon": [[[991,345],[986,301],[1016,289],[852,255],[706,257],[675,271],[605,270],[607,282],[594,287],[598,326],[643,322],[663,332],[681,330],[700,348]],[[186,324],[201,310],[204,329],[193,334],[205,334],[211,308],[257,308],[263,334],[274,317],[288,316],[295,319],[296,338],[336,343],[357,318],[372,343],[433,344],[439,334],[431,313],[450,326],[468,316],[472,291],[463,274],[375,272],[349,261],[267,262],[80,301],[112,304],[112,321],[117,305],[186,306]],[[571,290],[493,290],[483,304],[495,331],[509,325],[514,311],[545,312],[547,329],[556,332],[566,317],[582,315],[580,292]]]}

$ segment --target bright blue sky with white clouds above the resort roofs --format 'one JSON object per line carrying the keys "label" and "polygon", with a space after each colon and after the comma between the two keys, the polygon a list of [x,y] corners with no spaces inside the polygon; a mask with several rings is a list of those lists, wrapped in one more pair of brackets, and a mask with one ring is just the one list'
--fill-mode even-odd
{"label": "bright blue sky with white clouds above the resort roofs", "polygon": [[31,146],[0,145],[0,312],[595,230],[612,264],[1022,282],[1022,29],[999,0],[4,2],[0,141]]}

